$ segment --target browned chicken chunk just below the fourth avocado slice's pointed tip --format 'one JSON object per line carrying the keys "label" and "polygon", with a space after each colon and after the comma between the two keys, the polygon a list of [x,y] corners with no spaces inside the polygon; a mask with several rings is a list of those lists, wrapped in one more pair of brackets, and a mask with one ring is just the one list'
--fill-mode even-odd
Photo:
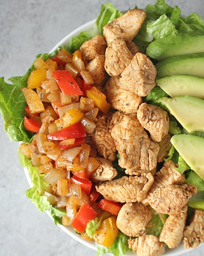
{"label": "browned chicken chunk just below the fourth avocado slice's pointed tip", "polygon": [[150,133],[150,139],[160,142],[169,131],[168,113],[152,104],[142,103],[137,111],[137,118],[146,130]]}

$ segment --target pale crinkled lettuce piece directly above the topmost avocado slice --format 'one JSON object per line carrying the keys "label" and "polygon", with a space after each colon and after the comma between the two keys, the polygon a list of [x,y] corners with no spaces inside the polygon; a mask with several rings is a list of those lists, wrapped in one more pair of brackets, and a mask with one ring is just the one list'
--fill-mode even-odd
{"label": "pale crinkled lettuce piece directly above the topmost avocado slice", "polygon": [[155,40],[178,33],[175,25],[166,14],[163,14],[157,20],[148,24],[147,32],[153,34]]}

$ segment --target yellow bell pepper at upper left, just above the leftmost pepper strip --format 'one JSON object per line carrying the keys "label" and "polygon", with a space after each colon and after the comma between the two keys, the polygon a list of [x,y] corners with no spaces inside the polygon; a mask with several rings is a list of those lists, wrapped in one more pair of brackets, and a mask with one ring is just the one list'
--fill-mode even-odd
{"label": "yellow bell pepper at upper left, just above the leftmost pepper strip", "polygon": [[52,66],[54,66],[54,68],[57,69],[56,61],[47,59],[45,61],[45,63],[43,64],[43,66],[41,66],[38,69],[33,70],[28,78],[28,81],[27,81],[28,88],[34,89],[34,88],[40,87],[42,82],[47,79],[46,78],[47,70]]}

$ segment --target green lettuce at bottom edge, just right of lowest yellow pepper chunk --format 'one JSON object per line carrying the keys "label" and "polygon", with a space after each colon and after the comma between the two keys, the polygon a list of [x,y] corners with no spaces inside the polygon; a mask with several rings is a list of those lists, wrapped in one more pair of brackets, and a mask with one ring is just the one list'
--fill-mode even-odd
{"label": "green lettuce at bottom edge, just right of lowest yellow pepper chunk", "polygon": [[111,247],[108,248],[98,245],[96,256],[103,256],[105,253],[112,253],[114,256],[124,255],[126,252],[131,251],[128,248],[128,239],[128,236],[119,231],[118,236]]}

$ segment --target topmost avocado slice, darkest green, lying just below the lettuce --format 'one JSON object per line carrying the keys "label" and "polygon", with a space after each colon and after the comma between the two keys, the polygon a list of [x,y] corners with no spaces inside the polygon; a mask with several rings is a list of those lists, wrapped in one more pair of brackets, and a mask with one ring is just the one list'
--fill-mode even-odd
{"label": "topmost avocado slice, darkest green, lying just below the lettuce", "polygon": [[149,44],[146,54],[162,60],[170,56],[204,52],[203,31],[173,34],[159,38]]}

